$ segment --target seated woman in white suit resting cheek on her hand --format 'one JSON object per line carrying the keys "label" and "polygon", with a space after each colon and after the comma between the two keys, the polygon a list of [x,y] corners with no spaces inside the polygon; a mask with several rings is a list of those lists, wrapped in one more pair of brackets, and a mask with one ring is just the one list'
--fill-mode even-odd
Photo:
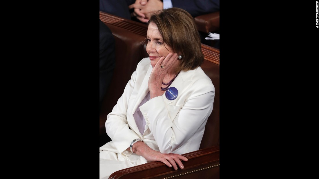
{"label": "seated woman in white suit resting cheek on her hand", "polygon": [[108,114],[112,141],[100,147],[100,178],[152,161],[183,169],[181,154],[199,149],[215,88],[204,61],[193,17],[159,10],[148,21],[146,51],[121,98]]}

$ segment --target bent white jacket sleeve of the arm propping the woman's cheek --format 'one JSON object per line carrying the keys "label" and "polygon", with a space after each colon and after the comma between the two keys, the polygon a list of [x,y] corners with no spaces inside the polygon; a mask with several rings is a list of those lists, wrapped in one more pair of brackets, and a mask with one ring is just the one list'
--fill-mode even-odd
{"label": "bent white jacket sleeve of the arm propping the woman's cheek", "polygon": [[[212,112],[215,88],[204,82],[207,85],[197,81],[190,87],[192,89],[181,106],[166,106],[163,97],[158,96],[140,107],[142,114],[148,118],[148,126],[161,153],[178,149],[203,127],[203,123],[206,124]],[[171,119],[169,110],[174,108],[178,113]]]}

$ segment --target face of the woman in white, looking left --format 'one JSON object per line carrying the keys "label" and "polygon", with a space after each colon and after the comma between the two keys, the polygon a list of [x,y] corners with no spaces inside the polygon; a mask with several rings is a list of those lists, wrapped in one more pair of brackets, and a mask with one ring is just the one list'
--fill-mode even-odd
{"label": "face of the woman in white, looking left", "polygon": [[151,65],[153,68],[161,57],[166,57],[168,53],[174,53],[171,47],[169,47],[167,44],[164,46],[163,38],[154,23],[150,23],[148,25],[146,37],[148,40],[146,52],[150,56]]}

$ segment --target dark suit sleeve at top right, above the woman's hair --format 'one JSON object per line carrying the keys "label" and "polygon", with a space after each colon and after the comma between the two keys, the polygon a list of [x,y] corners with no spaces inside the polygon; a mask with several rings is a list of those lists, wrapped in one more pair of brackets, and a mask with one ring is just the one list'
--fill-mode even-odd
{"label": "dark suit sleeve at top right, above the woman's hair", "polygon": [[193,17],[219,11],[219,0],[171,0],[173,7],[189,12]]}

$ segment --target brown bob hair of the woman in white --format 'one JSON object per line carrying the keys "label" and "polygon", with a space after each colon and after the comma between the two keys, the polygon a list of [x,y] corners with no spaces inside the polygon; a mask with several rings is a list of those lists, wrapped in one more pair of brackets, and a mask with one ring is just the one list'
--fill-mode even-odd
{"label": "brown bob hair of the woman in white", "polygon": [[204,61],[199,32],[194,18],[180,8],[159,10],[152,14],[148,24],[154,23],[164,45],[167,44],[178,55],[182,55],[177,72],[194,70]]}

